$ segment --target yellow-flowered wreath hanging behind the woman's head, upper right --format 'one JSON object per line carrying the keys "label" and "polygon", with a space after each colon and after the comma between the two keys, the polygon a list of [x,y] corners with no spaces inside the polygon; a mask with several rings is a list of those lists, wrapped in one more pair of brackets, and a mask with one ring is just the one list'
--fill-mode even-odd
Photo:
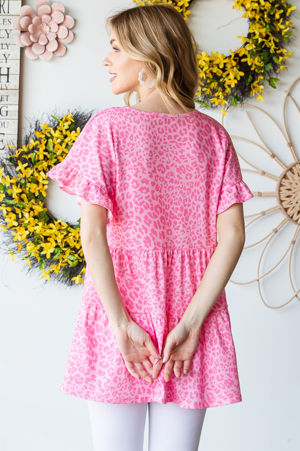
{"label": "yellow-flowered wreath hanging behind the woman's head, upper right", "polygon": [[[160,1],[133,0],[136,6]],[[191,13],[188,8],[196,0],[162,1],[174,6],[187,20]],[[230,49],[229,55],[218,51],[197,54],[199,87],[194,101],[203,108],[223,106],[223,116],[229,106],[237,106],[249,97],[263,101],[264,83],[276,88],[275,83],[280,81],[276,75],[286,69],[285,62],[294,53],[285,47],[294,28],[289,16],[296,6],[287,0],[234,0],[233,9],[236,8],[244,10],[242,17],[249,23],[247,36],[238,36],[242,46]]]}

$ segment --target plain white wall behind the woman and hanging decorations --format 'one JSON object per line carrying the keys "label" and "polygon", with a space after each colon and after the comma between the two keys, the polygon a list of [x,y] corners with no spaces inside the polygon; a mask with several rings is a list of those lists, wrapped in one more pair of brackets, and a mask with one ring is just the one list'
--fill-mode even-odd
{"label": "plain white wall behind the woman and hanging decorations", "polygon": [[[299,29],[299,1],[292,3],[298,6],[294,24]],[[35,9],[36,2],[27,0],[24,4]],[[112,94],[108,70],[102,64],[109,51],[104,18],[119,7],[129,7],[130,3],[125,0],[89,0],[85,3],[64,0],[63,4],[67,14],[76,19],[73,28],[75,39],[67,45],[66,55],[53,57],[50,61],[31,61],[22,50],[22,133],[27,117],[35,115],[40,118],[44,112],[53,114],[56,108],[65,114],[67,109],[78,106],[86,110],[101,110],[124,105],[123,94]],[[247,34],[246,19],[241,18],[242,12],[232,10],[232,5],[233,0],[201,0],[194,5],[188,23],[198,42],[201,42],[201,48],[208,53],[219,50],[228,54],[229,48],[235,49],[240,45],[237,34]],[[281,82],[277,83],[277,89],[266,87],[263,103],[255,99],[249,101],[272,114],[282,128],[285,90],[300,75],[298,30],[294,32],[291,48],[295,54],[287,63],[288,71],[279,74]],[[295,89],[295,100],[300,105],[300,87]],[[252,114],[250,108],[247,110]],[[292,108],[289,111],[289,124],[300,157],[300,141],[297,139],[299,114]],[[221,121],[221,113],[206,110],[206,114]],[[288,148],[278,138],[274,125],[263,116],[253,117],[270,148],[282,156],[282,160],[291,162]],[[245,111],[240,108],[226,115],[224,126],[231,134],[247,136],[257,142],[255,130],[247,122]],[[271,170],[272,161],[264,161],[253,146],[248,147],[237,140],[234,144],[241,153],[251,155],[253,164],[264,164],[261,169]],[[260,180],[259,176],[250,177],[249,173],[244,175],[244,179],[253,191],[274,188],[273,185],[269,188],[269,184]],[[75,197],[64,195],[55,183],[50,184],[49,210],[54,209],[54,198],[55,202],[58,199],[55,214],[61,217],[67,215],[70,220],[76,221],[80,216],[80,207],[76,205]],[[260,198],[251,202],[252,199],[244,204],[245,214],[273,205],[274,199],[264,201]],[[252,227],[247,235],[249,244],[252,239],[264,236],[266,230],[276,226],[278,218],[280,220],[282,216],[275,215],[271,225],[262,220]],[[268,257],[264,260],[264,270],[275,261],[275,255],[281,255],[286,249],[294,229],[291,226],[281,235],[278,233],[278,241],[272,242]],[[297,287],[300,286],[299,241],[300,237],[293,263]],[[234,280],[255,277],[259,250],[244,251],[234,272]],[[264,296],[274,306],[284,302],[291,293],[286,263],[287,260],[263,282]],[[60,392],[82,289],[82,286],[65,288],[52,280],[44,283],[39,271],[26,273],[18,256],[12,262],[7,255],[0,255],[0,448],[3,451],[92,451],[85,400]],[[243,400],[241,403],[207,409],[199,449],[299,450],[299,302],[294,299],[284,308],[266,308],[260,300],[256,283],[233,285],[229,282],[226,293]],[[146,444],[147,438],[145,449]]]}

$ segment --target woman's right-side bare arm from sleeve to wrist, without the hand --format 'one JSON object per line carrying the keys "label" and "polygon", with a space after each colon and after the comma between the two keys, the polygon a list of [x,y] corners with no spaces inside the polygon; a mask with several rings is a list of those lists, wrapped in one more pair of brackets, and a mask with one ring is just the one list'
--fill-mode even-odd
{"label": "woman's right-side bare arm from sleeve to wrist, without the hand", "polygon": [[190,326],[201,327],[224,290],[245,244],[243,204],[234,203],[217,215],[219,241],[201,283],[181,318]]}

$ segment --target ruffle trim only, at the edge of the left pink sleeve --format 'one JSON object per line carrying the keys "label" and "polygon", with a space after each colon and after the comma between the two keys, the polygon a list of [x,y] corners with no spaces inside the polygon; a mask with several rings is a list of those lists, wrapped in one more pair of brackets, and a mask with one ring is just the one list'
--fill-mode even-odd
{"label": "ruffle trim only, at the edge of the left pink sleeve", "polygon": [[81,198],[89,203],[96,203],[107,208],[107,224],[112,221],[113,202],[108,196],[105,187],[100,186],[81,175],[65,161],[51,168],[47,175],[50,179],[59,182],[58,188],[65,193],[77,196],[76,203],[81,206]]}

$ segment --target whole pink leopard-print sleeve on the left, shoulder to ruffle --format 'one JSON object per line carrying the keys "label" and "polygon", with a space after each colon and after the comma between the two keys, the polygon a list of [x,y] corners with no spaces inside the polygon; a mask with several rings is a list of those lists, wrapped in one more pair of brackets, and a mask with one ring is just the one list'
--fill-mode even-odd
{"label": "whole pink leopard-print sleeve on the left, shoulder to ruffle", "polygon": [[107,208],[107,223],[112,220],[116,186],[116,156],[110,120],[106,110],[90,117],[67,156],[47,175],[59,182],[65,193]]}

